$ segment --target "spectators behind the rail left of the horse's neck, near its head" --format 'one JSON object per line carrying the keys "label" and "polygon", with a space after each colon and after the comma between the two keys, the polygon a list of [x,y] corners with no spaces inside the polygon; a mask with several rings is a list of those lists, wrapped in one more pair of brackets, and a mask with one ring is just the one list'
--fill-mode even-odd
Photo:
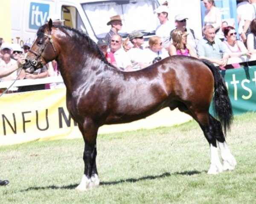
{"label": "spectators behind the rail left of the horse's neck, near its head", "polygon": [[[49,18],[50,17],[48,17],[47,21],[49,21]],[[61,24],[64,21],[57,19],[56,17],[53,16],[51,18],[55,24]],[[4,39],[0,38],[0,71],[4,73],[0,74],[0,81],[17,79],[41,79],[60,75],[58,65],[55,60],[47,63],[46,65],[44,65],[43,68],[37,69],[36,71],[34,71],[34,73],[30,73],[30,68],[27,68],[26,70],[22,69],[21,61],[25,60],[24,54],[26,54],[29,51],[31,46],[32,44],[30,40],[26,40],[23,46],[21,47],[20,44],[11,44],[10,42],[4,42]],[[6,91],[6,93],[37,91],[55,88],[56,85],[56,83],[50,83],[26,85],[19,87],[11,86],[8,88],[8,91],[6,91],[6,88],[0,89],[0,93],[3,93],[4,91]]]}

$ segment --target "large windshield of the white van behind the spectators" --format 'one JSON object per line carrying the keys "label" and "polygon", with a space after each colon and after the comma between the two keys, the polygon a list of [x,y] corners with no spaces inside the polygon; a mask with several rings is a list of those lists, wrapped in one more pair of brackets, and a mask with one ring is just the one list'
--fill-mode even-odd
{"label": "large windshield of the white van behind the spectators", "polygon": [[122,30],[118,33],[126,37],[128,33],[139,30],[145,35],[154,35],[159,25],[154,10],[159,6],[156,0],[109,0],[82,4],[85,15],[97,38],[104,38],[110,31],[107,26],[110,17],[120,15]]}

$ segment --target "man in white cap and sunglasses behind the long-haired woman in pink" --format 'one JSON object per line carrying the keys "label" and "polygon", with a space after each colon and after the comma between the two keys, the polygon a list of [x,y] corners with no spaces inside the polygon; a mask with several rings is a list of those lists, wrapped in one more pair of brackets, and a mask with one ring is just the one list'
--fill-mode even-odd
{"label": "man in white cap and sunglasses behind the long-haired woman in pink", "polygon": [[187,43],[192,47],[192,49],[196,53],[196,45],[197,45],[197,42],[198,42],[198,38],[195,37],[194,30],[192,30],[190,28],[186,28],[186,21],[187,20],[188,20],[188,18],[183,14],[177,14],[175,16],[176,28],[174,30],[172,30],[171,33],[170,33],[170,43],[172,44],[172,32],[173,31],[175,31],[176,29],[179,29],[181,31],[185,31],[188,34],[187,35]]}

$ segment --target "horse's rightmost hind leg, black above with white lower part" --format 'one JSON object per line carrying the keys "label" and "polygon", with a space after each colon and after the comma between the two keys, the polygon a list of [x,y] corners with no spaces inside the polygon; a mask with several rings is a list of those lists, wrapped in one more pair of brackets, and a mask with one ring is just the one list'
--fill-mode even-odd
{"label": "horse's rightmost hind leg, black above with white lower part", "polygon": [[227,142],[225,141],[221,123],[218,120],[216,120],[215,118],[213,118],[212,116],[210,116],[210,117],[212,119],[212,122],[213,122],[215,130],[216,130],[215,135],[216,135],[216,139],[218,141],[218,146],[219,146],[220,152],[221,152],[221,158],[223,161],[223,170],[234,170],[235,166],[236,166],[236,159],[231,154],[231,152],[228,148]]}

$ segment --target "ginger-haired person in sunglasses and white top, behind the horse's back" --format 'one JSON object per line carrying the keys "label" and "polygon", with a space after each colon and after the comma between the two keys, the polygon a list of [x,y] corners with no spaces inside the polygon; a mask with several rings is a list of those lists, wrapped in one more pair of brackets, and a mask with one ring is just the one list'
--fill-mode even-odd
{"label": "ginger-haired person in sunglasses and white top, behind the horse's back", "polygon": [[163,48],[163,42],[160,37],[153,36],[148,40],[149,48],[144,49],[145,62],[154,64],[161,59],[169,57],[168,52]]}

